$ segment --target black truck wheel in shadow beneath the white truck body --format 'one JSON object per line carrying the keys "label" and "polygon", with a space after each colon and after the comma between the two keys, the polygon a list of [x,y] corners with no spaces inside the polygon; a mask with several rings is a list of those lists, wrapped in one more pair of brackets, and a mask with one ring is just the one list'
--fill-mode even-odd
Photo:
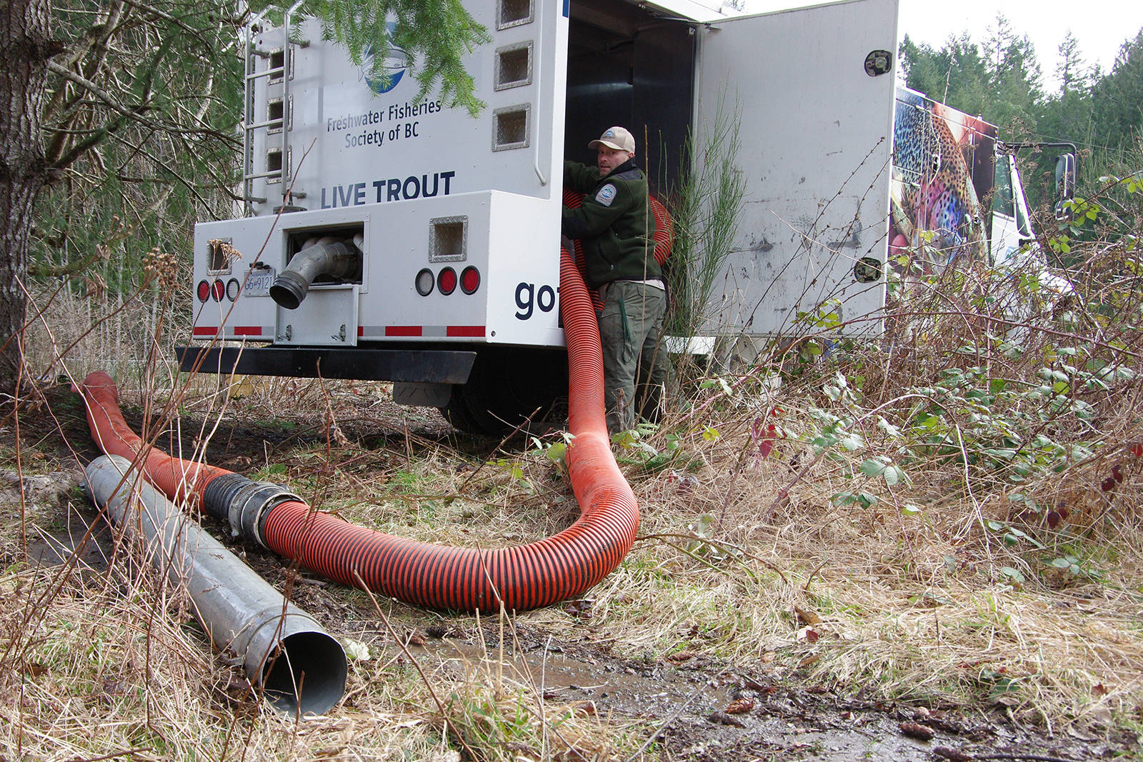
{"label": "black truck wheel in shadow beneath the white truck body", "polygon": [[477,354],[469,383],[453,386],[442,412],[471,434],[502,436],[529,416],[527,431],[536,431],[567,388],[563,350],[489,347]]}

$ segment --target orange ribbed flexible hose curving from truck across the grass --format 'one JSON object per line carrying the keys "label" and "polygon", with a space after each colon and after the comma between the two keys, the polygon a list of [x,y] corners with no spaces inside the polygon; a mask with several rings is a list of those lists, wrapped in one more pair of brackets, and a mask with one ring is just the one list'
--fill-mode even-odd
{"label": "orange ribbed flexible hose curving from truck across the grass", "polygon": [[[612,455],[604,418],[604,359],[591,297],[567,251],[560,257],[560,308],[567,337],[568,473],[580,518],[563,531],[499,550],[447,547],[354,527],[320,513],[283,488],[150,450],[146,473],[185,473],[192,491],[233,531],[313,571],[414,605],[456,611],[534,609],[574,597],[610,573],[631,550],[639,527],[634,494]],[[138,458],[143,441],[119,410],[114,382],[102,371],[80,390],[91,435],[106,452]]]}

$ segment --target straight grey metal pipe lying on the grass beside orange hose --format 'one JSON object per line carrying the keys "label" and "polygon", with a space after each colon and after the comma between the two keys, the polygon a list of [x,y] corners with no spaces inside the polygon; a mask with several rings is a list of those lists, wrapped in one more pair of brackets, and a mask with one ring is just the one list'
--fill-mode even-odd
{"label": "straight grey metal pipe lying on the grass beside orange hose", "polygon": [[242,659],[250,683],[271,706],[318,715],[341,700],[346,679],[341,644],[139,479],[127,458],[96,458],[87,467],[86,488],[115,526],[142,536],[155,569],[186,587],[210,642]]}

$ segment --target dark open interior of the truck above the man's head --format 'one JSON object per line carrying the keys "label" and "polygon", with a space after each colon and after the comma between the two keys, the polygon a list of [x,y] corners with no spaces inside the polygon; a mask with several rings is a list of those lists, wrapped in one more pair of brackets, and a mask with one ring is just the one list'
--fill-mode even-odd
{"label": "dark open interior of the truck above the man's head", "polygon": [[588,143],[608,127],[626,127],[652,192],[668,194],[680,179],[689,137],[690,24],[631,2],[570,2],[565,158],[594,165]]}

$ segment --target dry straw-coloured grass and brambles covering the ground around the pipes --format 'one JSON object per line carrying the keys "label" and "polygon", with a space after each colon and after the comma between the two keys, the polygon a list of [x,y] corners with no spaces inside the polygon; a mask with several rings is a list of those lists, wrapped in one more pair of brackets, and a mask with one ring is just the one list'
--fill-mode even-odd
{"label": "dry straw-coloured grass and brambles covering the ground around the pipes", "polygon": [[[606,642],[617,658],[693,651],[778,680],[1000,703],[1052,727],[1138,727],[1143,384],[1100,369],[1140,368],[1143,342],[1137,297],[1098,291],[1112,283],[1100,275],[1106,259],[1084,271],[1093,314],[1036,315],[1040,330],[1018,347],[978,300],[909,303],[927,322],[890,343],[842,343],[822,358],[808,351],[824,346],[810,329],[800,344],[764,347],[751,367],[688,380],[676,412],[644,432],[647,447],[617,448],[642,511],[631,554],[590,591],[590,607],[494,623],[506,633],[503,658],[498,644],[407,655],[363,594],[298,585],[336,635],[373,650],[351,663],[345,701],[319,720],[293,722],[254,700],[179,594],[127,554],[104,575],[29,568],[9,520],[0,756],[443,761],[466,744],[489,760],[604,760],[639,747],[646,724],[545,701],[542,681],[515,663],[513,626]],[[1101,315],[1108,304],[1120,316]],[[71,340],[65,327],[32,350],[48,375],[66,366],[79,377],[117,351],[121,330],[77,345],[86,348],[74,359],[51,355]],[[1038,396],[1053,370],[1066,388]],[[193,430],[183,431],[192,447],[221,443],[229,462],[218,465],[287,483],[357,523],[488,547],[554,534],[576,515],[545,450],[558,436],[489,451],[445,433],[434,411],[394,412],[381,384],[184,385],[165,374],[120,375],[126,402],[160,427]],[[165,420],[167,410],[183,417]],[[15,472],[11,422],[3,465]],[[280,436],[249,447],[243,427],[255,424]],[[22,446],[25,475],[81,465],[37,452],[40,443]],[[863,473],[871,459],[900,473]],[[34,502],[18,511],[32,534],[58,514]],[[382,608],[399,637],[441,621],[481,633],[471,618]]]}

